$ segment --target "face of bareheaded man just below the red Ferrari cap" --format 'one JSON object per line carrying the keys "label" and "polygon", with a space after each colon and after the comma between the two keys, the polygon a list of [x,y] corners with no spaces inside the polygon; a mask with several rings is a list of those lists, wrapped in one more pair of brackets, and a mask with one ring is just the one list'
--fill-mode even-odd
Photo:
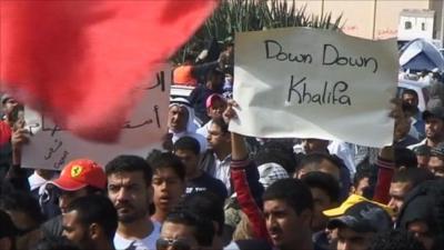
{"label": "face of bareheaded man just below the red Ferrari cap", "polygon": [[93,248],[92,240],[89,237],[89,228],[79,221],[79,214],[75,210],[63,214],[62,228],[62,234],[81,247],[81,249]]}

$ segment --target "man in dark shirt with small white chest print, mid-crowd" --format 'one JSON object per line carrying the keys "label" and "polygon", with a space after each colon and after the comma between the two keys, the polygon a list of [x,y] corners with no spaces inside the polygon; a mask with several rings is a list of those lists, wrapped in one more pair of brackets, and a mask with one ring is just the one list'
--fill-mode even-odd
{"label": "man in dark shirt with small white chest print, mid-crowd", "polygon": [[224,183],[199,168],[200,146],[191,137],[183,137],[174,143],[174,154],[178,156],[185,166],[186,173],[186,194],[200,191],[210,191],[225,200],[228,192]]}

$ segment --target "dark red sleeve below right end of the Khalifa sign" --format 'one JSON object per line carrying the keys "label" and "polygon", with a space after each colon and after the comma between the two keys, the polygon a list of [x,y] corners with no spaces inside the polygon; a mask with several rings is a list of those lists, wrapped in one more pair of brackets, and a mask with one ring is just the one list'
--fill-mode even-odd
{"label": "dark red sleeve below right end of the Khalifa sign", "polygon": [[392,161],[384,161],[377,159],[377,182],[373,200],[383,204],[390,201],[390,184],[394,174],[394,163]]}

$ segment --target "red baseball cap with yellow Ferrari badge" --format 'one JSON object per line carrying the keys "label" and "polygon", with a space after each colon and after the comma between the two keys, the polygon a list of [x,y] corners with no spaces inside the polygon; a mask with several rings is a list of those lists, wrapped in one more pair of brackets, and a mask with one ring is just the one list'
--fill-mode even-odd
{"label": "red baseball cap with yellow Ferrari badge", "polygon": [[48,183],[54,184],[64,191],[77,191],[88,186],[105,189],[107,174],[103,168],[92,160],[78,159],[69,162],[60,177]]}

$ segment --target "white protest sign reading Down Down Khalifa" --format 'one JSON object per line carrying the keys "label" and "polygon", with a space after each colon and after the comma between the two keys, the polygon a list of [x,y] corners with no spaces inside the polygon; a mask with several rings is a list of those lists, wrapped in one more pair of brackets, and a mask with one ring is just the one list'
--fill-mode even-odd
{"label": "white protest sign reading Down Down Khalifa", "polygon": [[236,33],[230,130],[262,138],[392,143],[395,40],[285,28]]}

